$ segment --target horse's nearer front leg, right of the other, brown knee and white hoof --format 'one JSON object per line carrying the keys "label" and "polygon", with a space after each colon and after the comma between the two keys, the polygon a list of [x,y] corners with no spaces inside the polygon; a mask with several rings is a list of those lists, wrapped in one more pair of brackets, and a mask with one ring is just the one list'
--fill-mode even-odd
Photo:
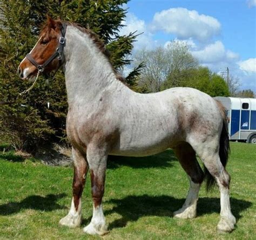
{"label": "horse's nearer front leg, right of the other, brown knee and white hoof", "polygon": [[106,176],[107,152],[95,146],[87,148],[87,160],[90,167],[93,215],[89,225],[83,231],[91,235],[104,235],[107,225],[103,214],[102,198]]}

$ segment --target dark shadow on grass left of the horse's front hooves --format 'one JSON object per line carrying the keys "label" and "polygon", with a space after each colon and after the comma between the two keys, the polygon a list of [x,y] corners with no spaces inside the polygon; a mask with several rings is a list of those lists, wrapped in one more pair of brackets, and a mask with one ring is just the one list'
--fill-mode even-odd
{"label": "dark shadow on grass left of the horse's front hooves", "polygon": [[0,205],[0,215],[6,216],[15,214],[22,209],[35,209],[42,211],[53,211],[56,209],[66,209],[66,207],[61,206],[56,203],[60,198],[65,197],[66,194],[49,194],[45,197],[42,196],[29,196],[24,198],[21,202],[9,202]]}

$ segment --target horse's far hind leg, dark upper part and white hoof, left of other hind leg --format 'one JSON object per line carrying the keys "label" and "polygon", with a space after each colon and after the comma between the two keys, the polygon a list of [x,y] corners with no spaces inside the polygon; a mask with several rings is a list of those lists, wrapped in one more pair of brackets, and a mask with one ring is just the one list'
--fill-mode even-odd
{"label": "horse's far hind leg, dark upper part and white hoof, left of other hind leg", "polygon": [[173,212],[173,216],[194,218],[197,216],[198,193],[204,180],[204,173],[197,162],[196,153],[188,143],[181,143],[173,150],[190,180],[190,189],[188,190],[186,201],[181,209]]}

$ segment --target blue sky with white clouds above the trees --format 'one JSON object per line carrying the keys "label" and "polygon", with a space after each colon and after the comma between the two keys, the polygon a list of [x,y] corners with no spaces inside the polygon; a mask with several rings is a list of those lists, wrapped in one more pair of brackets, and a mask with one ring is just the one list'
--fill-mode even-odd
{"label": "blue sky with white clouds above the trees", "polygon": [[126,26],[142,33],[134,50],[186,42],[201,65],[239,78],[256,93],[256,0],[131,0]]}

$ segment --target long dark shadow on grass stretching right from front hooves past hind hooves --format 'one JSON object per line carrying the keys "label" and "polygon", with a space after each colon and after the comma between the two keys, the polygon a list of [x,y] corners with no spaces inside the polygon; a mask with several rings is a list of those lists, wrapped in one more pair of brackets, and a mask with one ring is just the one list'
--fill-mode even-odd
{"label": "long dark shadow on grass stretching right from front hooves past hind hooves", "polygon": [[[177,199],[171,196],[127,196],[123,199],[111,199],[107,203],[115,204],[113,209],[105,211],[105,215],[117,212],[122,218],[109,224],[109,229],[123,228],[128,222],[137,221],[143,216],[167,216],[172,217],[173,211],[182,207],[185,199]],[[241,217],[241,211],[251,207],[252,203],[231,198],[232,212],[237,220]],[[203,197],[198,200],[197,215],[220,212],[220,199]]]}

